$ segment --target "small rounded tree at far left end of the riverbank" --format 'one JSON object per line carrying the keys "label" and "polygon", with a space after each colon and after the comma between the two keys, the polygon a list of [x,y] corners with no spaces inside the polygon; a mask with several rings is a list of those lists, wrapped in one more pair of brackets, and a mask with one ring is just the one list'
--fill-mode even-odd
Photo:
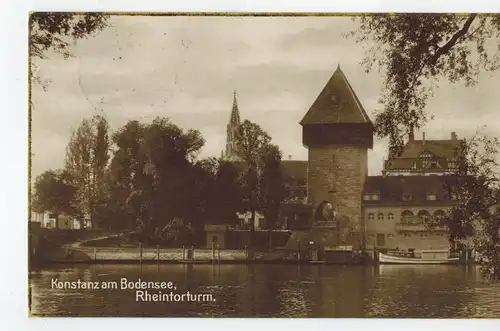
{"label": "small rounded tree at far left end of the riverbank", "polygon": [[47,170],[36,178],[34,188],[33,209],[36,212],[73,216],[77,214],[74,205],[76,187],[71,185],[68,172]]}

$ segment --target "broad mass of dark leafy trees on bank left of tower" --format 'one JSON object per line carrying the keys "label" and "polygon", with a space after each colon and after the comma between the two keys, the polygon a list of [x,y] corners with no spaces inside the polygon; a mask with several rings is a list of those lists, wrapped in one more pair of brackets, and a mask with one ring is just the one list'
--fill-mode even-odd
{"label": "broad mass of dark leafy trees on bank left of tower", "polygon": [[237,141],[240,162],[200,159],[205,140],[197,130],[158,117],[110,132],[106,118],[95,115],[74,131],[64,169],[35,179],[33,209],[171,245],[189,244],[205,224],[240,226],[242,210],[273,224],[284,194],[281,152],[249,121]]}

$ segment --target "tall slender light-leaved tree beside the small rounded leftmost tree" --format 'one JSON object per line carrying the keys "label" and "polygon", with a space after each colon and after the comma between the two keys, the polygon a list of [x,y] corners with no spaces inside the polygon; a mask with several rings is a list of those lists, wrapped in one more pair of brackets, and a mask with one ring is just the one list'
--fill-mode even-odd
{"label": "tall slender light-leaved tree beside the small rounded leftmost tree", "polygon": [[[101,115],[96,115],[91,120],[83,119],[66,148],[65,169],[77,188],[79,211],[88,216],[91,222],[102,222],[102,219],[95,216],[98,216],[99,209],[105,207],[103,203],[106,200],[108,160],[106,119]],[[97,224],[99,225],[102,224]]]}

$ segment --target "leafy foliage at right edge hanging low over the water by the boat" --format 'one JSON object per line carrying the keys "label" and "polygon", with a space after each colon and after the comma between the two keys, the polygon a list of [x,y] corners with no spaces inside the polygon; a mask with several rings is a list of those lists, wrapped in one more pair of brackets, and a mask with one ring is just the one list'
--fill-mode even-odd
{"label": "leafy foliage at right edge hanging low over the water by the boat", "polygon": [[453,246],[474,248],[483,272],[500,278],[500,165],[498,139],[476,136],[461,142],[459,171],[447,183],[456,204],[442,219]]}

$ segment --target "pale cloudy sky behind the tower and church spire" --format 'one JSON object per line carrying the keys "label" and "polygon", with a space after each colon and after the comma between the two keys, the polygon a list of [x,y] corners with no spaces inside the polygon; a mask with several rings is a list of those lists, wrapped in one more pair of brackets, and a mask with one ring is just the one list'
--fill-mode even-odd
{"label": "pale cloudy sky behind the tower and church spire", "polygon": [[[307,160],[298,122],[338,64],[372,119],[380,108],[380,74],[366,74],[363,46],[342,37],[356,28],[350,18],[115,16],[111,24],[73,47],[75,57],[38,61],[50,85],[33,87],[33,176],[62,167],[71,132],[100,109],[112,129],[169,117],[202,132],[200,157],[219,156],[236,89],[241,117],[261,125],[285,158]],[[464,137],[485,124],[500,136],[498,86],[498,72],[473,88],[440,84],[426,138]],[[371,175],[386,147],[376,140]]]}

